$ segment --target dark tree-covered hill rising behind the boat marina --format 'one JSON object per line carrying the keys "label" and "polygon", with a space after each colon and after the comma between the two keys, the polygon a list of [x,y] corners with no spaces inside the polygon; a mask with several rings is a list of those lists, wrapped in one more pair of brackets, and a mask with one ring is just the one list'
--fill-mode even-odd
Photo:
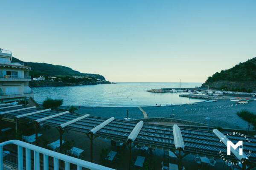
{"label": "dark tree-covered hill rising behind the boat marina", "polygon": [[233,68],[216,72],[202,87],[230,91],[256,91],[256,57],[240,62]]}

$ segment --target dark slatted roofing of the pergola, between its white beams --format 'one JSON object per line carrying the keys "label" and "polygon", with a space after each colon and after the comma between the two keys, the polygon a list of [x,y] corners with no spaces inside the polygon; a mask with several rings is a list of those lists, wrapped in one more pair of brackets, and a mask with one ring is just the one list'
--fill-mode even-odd
{"label": "dark slatted roofing of the pergola, between its white beams", "polygon": [[[0,106],[1,107],[5,107]],[[13,108],[3,108],[0,109],[1,112],[13,111],[2,116],[7,117],[16,117],[18,115],[23,115],[27,113],[32,113],[36,111],[41,111],[43,109],[39,108],[30,108],[26,110],[14,111],[17,109],[22,109],[24,107],[17,106]],[[55,114],[62,113],[62,111],[44,111],[36,114],[32,114],[28,116],[24,116],[21,119],[29,119],[29,120],[37,120],[42,119],[48,116],[53,116]],[[70,122],[74,119],[81,117],[81,115],[76,115],[72,113],[65,112],[60,116],[53,117],[51,119],[47,119],[41,121],[41,124],[49,125],[51,127],[59,127],[66,122]],[[107,119],[87,116],[84,119],[71,123],[64,127],[64,129],[74,130],[81,133],[90,133],[90,130],[101,125]],[[102,124],[103,125],[103,124]],[[104,124],[100,129],[97,129],[95,135],[101,136],[109,139],[122,140],[127,141],[128,136],[131,134],[134,127],[137,125],[135,122],[125,122],[122,120],[111,119],[108,121],[108,124]],[[180,128],[180,133],[184,142],[184,151],[190,153],[199,153],[210,156],[219,156],[218,151],[220,150],[222,153],[227,152],[227,147],[225,144],[219,142],[218,136],[216,136],[213,132],[200,131],[200,130],[191,130]],[[253,136],[247,136],[250,142],[246,142],[246,139],[241,136],[229,136],[229,139],[236,143],[239,140],[243,140],[243,151],[245,154],[250,153],[250,161],[256,163],[256,138]],[[164,148],[175,150],[175,142],[173,136],[173,128],[168,126],[161,125],[152,125],[144,123],[141,127],[137,137],[134,140],[135,143],[139,143],[142,145],[147,145],[150,147]],[[231,155],[229,159],[236,159],[234,155]]]}

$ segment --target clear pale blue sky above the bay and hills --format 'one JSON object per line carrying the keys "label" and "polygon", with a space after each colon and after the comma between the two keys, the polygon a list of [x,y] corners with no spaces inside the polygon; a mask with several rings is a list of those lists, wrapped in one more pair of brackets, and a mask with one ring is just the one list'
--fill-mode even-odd
{"label": "clear pale blue sky above the bay and hills", "polygon": [[9,1],[0,48],[116,82],[204,82],[256,57],[255,0]]}

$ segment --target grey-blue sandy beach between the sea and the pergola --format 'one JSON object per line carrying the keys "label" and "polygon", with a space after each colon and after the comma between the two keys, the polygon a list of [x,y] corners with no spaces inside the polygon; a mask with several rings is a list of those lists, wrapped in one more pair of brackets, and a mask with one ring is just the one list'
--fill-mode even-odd
{"label": "grey-blue sandy beach between the sea and the pergola", "polygon": [[[254,112],[256,110],[256,101],[251,101],[248,104],[236,105],[235,102],[230,102],[230,99],[221,99],[218,102],[197,102],[196,105],[182,106],[148,106],[140,107],[145,111],[148,118],[174,118],[193,121],[198,123],[208,124],[205,120],[210,117],[209,124],[211,126],[227,127],[227,128],[247,128],[247,122],[244,122],[236,112],[247,110]],[[138,107],[81,107],[77,113],[90,113],[92,116],[104,118],[115,117],[122,119],[127,116],[127,109],[131,119],[143,119],[145,114]],[[173,110],[172,110],[173,109]],[[171,115],[174,116],[171,116]]]}

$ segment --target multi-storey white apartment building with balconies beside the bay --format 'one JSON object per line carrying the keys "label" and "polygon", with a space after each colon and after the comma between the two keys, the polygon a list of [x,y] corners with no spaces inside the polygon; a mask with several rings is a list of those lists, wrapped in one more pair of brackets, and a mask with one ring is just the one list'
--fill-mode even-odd
{"label": "multi-storey white apartment building with balconies beside the bay", "polygon": [[29,88],[30,67],[12,62],[12,52],[0,48],[0,103],[12,102],[33,96]]}

